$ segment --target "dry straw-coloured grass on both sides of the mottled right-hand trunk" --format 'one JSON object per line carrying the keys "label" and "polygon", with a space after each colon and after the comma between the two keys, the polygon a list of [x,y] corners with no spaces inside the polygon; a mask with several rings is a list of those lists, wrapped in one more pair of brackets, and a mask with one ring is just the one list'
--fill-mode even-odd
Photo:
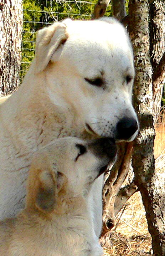
{"label": "dry straw-coloured grass on both sides of the mottled right-hand trunk", "polygon": [[[161,114],[160,123],[155,125],[154,143],[155,168],[158,180],[165,181],[165,113]],[[165,184],[164,184],[165,186]],[[105,241],[105,240],[104,240]],[[102,241],[100,241],[102,243]],[[145,217],[145,210],[140,192],[135,193],[117,216],[117,225],[106,236],[106,244],[102,244],[106,256],[149,256],[152,255],[151,236]]]}

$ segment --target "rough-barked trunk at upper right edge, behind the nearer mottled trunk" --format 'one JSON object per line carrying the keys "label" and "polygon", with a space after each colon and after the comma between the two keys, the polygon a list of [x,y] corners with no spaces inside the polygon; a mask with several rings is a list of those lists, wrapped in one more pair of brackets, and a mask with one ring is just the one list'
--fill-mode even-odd
{"label": "rough-barked trunk at upper right edge, behind the nearer mottled trunk", "polygon": [[154,70],[153,115],[156,121],[165,83],[165,1],[162,0],[155,0],[150,5],[150,55]]}

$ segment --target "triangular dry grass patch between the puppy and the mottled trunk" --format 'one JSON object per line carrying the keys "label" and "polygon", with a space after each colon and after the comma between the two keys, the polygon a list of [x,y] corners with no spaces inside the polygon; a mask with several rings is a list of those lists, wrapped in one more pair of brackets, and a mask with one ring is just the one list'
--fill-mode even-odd
{"label": "triangular dry grass patch between the puppy and the mottled trunk", "polygon": [[103,245],[104,255],[146,256],[152,255],[151,236],[145,217],[140,192],[128,201],[125,210],[117,216],[117,226],[107,234],[107,243]]}

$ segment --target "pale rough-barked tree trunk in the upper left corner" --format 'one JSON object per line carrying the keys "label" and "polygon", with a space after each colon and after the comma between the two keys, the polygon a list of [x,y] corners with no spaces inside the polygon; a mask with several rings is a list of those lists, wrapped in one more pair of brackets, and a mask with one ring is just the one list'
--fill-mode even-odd
{"label": "pale rough-barked tree trunk in the upper left corner", "polygon": [[0,2],[0,96],[19,86],[22,0]]}

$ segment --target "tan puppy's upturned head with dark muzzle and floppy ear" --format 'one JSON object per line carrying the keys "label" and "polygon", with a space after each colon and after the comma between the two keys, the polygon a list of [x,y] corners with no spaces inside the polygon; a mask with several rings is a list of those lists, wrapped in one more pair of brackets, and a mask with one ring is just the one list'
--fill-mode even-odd
{"label": "tan puppy's upturned head with dark muzzle and floppy ear", "polygon": [[86,197],[92,182],[113,165],[116,152],[109,138],[65,137],[48,144],[32,159],[27,205],[44,213],[61,212],[62,202]]}

